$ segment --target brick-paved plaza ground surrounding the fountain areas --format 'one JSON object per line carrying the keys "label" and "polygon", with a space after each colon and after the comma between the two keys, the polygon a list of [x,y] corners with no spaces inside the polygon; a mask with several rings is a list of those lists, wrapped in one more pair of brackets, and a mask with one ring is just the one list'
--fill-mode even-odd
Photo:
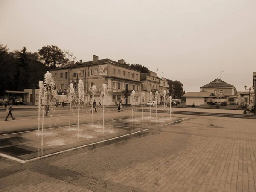
{"label": "brick-paved plaza ground surrounding the fountain areas", "polygon": [[[163,118],[163,114],[158,115]],[[141,113],[134,112],[134,116],[140,119]],[[96,121],[100,117],[97,114]],[[129,118],[128,111],[106,115],[110,124]],[[125,140],[89,145],[26,163],[2,157],[0,191],[256,190],[255,119],[189,115],[172,118],[173,122],[184,120],[163,126],[135,121],[134,128],[147,130]],[[14,122],[1,122],[1,126]],[[21,120],[21,125],[16,123],[17,130],[30,123],[36,126],[37,119]],[[131,122],[125,123],[131,126]]]}

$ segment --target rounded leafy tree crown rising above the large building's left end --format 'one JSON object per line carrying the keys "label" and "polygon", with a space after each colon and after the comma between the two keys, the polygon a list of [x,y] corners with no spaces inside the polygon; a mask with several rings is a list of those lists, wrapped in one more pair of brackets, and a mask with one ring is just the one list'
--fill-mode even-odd
{"label": "rounded leafy tree crown rising above the large building's left end", "polygon": [[50,66],[52,68],[61,67],[68,62],[68,59],[65,59],[64,52],[56,45],[44,46],[38,50],[38,53],[49,69]]}

